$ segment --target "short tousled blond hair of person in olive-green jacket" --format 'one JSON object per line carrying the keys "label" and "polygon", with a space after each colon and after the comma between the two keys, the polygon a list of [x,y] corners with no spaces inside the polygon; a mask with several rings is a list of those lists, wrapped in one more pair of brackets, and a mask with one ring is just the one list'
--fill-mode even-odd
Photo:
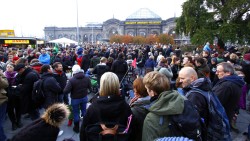
{"label": "short tousled blond hair of person in olive-green jacket", "polygon": [[143,83],[148,89],[153,90],[157,95],[170,89],[168,78],[158,71],[147,73],[143,78]]}

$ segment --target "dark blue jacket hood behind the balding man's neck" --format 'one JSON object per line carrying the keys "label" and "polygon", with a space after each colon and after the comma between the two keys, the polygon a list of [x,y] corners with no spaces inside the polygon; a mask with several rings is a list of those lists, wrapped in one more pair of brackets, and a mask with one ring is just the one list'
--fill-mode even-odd
{"label": "dark blue jacket hood behind the balding man's neck", "polygon": [[199,78],[193,81],[187,88],[184,88],[184,89],[188,89],[191,87],[199,88],[204,91],[212,90],[212,84],[208,78]]}

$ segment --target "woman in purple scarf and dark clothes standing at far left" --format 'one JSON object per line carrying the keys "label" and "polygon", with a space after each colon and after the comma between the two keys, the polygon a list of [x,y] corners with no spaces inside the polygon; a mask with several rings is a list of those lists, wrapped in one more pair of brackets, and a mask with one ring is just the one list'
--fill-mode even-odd
{"label": "woman in purple scarf and dark clothes standing at far left", "polygon": [[20,95],[18,94],[18,88],[16,86],[16,75],[17,72],[14,71],[14,65],[8,64],[6,67],[6,71],[4,72],[6,76],[9,87],[7,90],[8,96],[8,107],[7,112],[12,123],[12,130],[16,130],[17,128],[21,128],[23,124],[21,123],[21,112],[20,112]]}

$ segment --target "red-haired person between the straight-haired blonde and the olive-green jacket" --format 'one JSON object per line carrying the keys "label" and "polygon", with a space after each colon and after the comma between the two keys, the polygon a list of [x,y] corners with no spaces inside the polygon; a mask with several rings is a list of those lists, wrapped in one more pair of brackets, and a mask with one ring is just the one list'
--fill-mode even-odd
{"label": "red-haired person between the straight-haired blonde and the olive-green jacket", "polygon": [[135,141],[141,141],[143,121],[148,113],[145,108],[146,105],[150,104],[150,97],[147,93],[147,89],[143,84],[143,78],[138,77],[133,82],[134,97],[130,101],[131,111],[134,116],[134,130]]}

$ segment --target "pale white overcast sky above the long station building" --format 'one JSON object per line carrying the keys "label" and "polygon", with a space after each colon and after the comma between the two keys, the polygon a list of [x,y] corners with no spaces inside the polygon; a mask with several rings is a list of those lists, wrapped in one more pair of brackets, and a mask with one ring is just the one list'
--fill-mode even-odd
{"label": "pale white overcast sky above the long station building", "polygon": [[148,8],[163,20],[180,16],[186,0],[1,0],[0,29],[14,29],[16,36],[44,37],[45,26],[76,27],[78,23],[125,20]]}

